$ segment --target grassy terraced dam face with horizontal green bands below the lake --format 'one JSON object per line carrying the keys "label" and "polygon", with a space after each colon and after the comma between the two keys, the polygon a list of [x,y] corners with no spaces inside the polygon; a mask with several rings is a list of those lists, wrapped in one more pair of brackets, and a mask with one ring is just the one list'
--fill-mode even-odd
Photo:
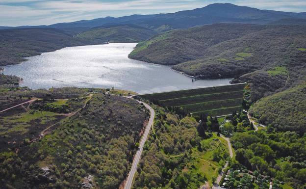
{"label": "grassy terraced dam face with horizontal green bands below the lake", "polygon": [[179,91],[141,94],[136,97],[168,108],[211,116],[231,114],[242,108],[245,83],[213,86]]}

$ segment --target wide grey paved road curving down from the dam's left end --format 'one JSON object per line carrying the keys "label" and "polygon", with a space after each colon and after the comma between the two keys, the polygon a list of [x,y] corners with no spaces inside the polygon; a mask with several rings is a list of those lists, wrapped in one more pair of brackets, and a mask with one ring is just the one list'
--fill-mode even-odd
{"label": "wide grey paved road curving down from the dam's left end", "polygon": [[[131,98],[131,97],[127,97],[127,98]],[[143,102],[138,101],[138,100],[136,100],[136,101],[139,102],[139,103],[143,103]],[[143,104],[145,105],[146,108],[148,108],[150,110],[151,116],[150,116],[148,125],[146,126],[146,130],[145,130],[144,134],[142,135],[141,141],[139,143],[139,150],[137,150],[136,155],[134,157],[132,167],[131,167],[131,170],[128,174],[128,179],[127,179],[127,182],[125,184],[124,189],[131,189],[131,186],[132,186],[132,183],[133,183],[133,178],[134,178],[135,172],[137,170],[137,165],[139,163],[139,160],[141,158],[141,153],[143,151],[143,146],[144,146],[144,144],[145,144],[145,142],[148,138],[150,129],[153,126],[153,121],[154,121],[154,116],[155,116],[154,110],[148,104],[146,104],[146,103],[143,103]]]}

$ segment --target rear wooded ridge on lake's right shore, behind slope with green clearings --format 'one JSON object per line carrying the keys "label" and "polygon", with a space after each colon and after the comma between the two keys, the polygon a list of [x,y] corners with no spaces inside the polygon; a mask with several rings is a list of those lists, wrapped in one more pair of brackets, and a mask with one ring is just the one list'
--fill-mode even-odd
{"label": "rear wooded ridge on lake's right shore, behind slope with green clearings", "polygon": [[130,58],[157,64],[175,65],[203,56],[207,49],[230,39],[263,29],[262,26],[215,24],[161,33],[139,43]]}

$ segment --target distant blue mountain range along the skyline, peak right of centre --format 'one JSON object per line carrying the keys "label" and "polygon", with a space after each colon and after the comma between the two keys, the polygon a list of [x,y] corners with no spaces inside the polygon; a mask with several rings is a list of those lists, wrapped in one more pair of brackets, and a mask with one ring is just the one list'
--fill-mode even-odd
{"label": "distant blue mountain range along the skyline, peak right of centre", "polygon": [[59,23],[49,27],[98,27],[105,24],[134,24],[142,27],[165,31],[174,28],[188,28],[214,23],[267,24],[286,18],[306,19],[306,13],[260,10],[230,3],[215,3],[203,8],[178,11],[168,14],[131,15],[124,17],[105,17],[82,20],[72,23]]}

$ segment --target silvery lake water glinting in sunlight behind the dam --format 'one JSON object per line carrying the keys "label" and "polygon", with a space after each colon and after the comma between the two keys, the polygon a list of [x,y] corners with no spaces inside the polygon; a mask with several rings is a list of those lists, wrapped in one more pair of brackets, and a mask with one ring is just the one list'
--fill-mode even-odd
{"label": "silvery lake water glinting in sunlight behind the dam", "polygon": [[18,65],[5,66],[4,74],[23,78],[22,86],[32,89],[114,86],[149,93],[229,84],[230,79],[192,82],[169,66],[129,59],[128,54],[135,46],[136,43],[110,43],[67,47],[28,57]]}

